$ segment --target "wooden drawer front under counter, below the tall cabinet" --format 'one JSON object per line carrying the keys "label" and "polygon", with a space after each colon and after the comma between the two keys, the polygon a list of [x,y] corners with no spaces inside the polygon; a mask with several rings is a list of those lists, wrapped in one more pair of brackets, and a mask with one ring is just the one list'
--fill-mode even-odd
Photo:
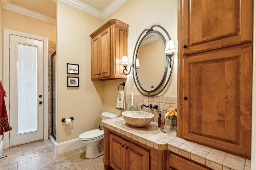
{"label": "wooden drawer front under counter, below the tall cabinet", "polygon": [[180,156],[169,153],[169,170],[208,170]]}

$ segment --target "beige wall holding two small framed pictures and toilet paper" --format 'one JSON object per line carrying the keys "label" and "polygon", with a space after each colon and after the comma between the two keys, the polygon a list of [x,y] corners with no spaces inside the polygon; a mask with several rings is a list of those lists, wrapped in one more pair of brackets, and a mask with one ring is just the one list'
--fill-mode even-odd
{"label": "beige wall holding two small framed pictures and toilet paper", "polygon": [[[91,80],[90,34],[103,21],[63,2],[57,2],[57,143],[77,139],[85,131],[101,125],[102,81]],[[66,64],[79,64],[79,86],[67,87]],[[74,117],[72,125],[62,118]]]}

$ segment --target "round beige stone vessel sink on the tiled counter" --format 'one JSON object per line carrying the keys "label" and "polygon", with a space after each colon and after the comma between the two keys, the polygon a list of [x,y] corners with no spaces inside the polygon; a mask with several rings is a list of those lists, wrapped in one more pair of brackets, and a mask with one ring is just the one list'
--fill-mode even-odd
{"label": "round beige stone vessel sink on the tiled counter", "polygon": [[126,123],[135,127],[144,127],[148,125],[154,117],[152,113],[146,111],[124,111],[122,112],[122,116]]}

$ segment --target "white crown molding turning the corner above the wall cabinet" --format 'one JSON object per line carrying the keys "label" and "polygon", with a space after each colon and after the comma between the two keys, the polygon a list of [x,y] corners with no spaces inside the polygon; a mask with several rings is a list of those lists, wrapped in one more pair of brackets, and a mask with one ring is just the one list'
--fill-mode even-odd
{"label": "white crown molding turning the corner above the wall cabinet", "polygon": [[[53,2],[56,2],[56,0],[52,0]],[[124,4],[127,0],[114,0],[105,10],[102,12],[99,10],[96,10],[95,8],[92,8],[91,6],[88,6],[78,0],[60,0],[61,2],[68,4],[70,6],[73,6],[74,8],[77,8],[81,11],[84,11],[88,14],[91,14],[92,16],[95,16],[97,18],[100,18],[104,20],[107,18],[112,12],[114,12],[116,9],[118,9],[122,4]]]}

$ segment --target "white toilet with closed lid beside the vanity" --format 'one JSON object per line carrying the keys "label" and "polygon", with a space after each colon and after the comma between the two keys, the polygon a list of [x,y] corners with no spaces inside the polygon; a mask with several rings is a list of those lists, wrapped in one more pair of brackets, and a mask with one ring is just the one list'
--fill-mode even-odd
{"label": "white toilet with closed lid beside the vanity", "polygon": [[[103,112],[101,114],[102,120],[111,119],[118,116],[119,115],[110,112]],[[103,154],[103,149],[99,149],[100,145],[101,148],[103,146],[103,130],[94,129],[91,131],[84,132],[81,135],[79,135],[79,139],[80,141],[82,141],[82,143],[86,143],[87,145],[85,154],[86,158],[92,159]]]}

